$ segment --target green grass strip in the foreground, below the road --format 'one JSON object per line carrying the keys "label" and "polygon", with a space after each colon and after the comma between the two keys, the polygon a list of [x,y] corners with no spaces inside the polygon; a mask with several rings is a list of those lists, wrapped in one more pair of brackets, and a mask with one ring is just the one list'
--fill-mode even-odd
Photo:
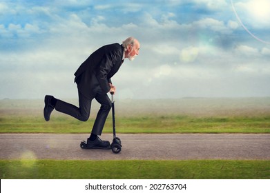
{"label": "green grass strip in the foreground, below the road", "polygon": [[270,161],[0,160],[1,179],[269,179]]}

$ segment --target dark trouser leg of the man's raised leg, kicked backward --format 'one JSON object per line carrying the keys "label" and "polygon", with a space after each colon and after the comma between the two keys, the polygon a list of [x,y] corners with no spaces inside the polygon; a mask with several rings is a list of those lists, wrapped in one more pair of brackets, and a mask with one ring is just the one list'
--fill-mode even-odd
{"label": "dark trouser leg of the man's raised leg, kicked backward", "polygon": [[83,94],[79,93],[79,108],[65,101],[57,100],[55,110],[75,117],[79,121],[87,121],[90,116],[90,108],[92,100],[87,99]]}

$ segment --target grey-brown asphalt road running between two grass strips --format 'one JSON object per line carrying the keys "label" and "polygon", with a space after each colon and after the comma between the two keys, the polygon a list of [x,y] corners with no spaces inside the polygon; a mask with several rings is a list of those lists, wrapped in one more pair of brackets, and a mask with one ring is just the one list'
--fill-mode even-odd
{"label": "grey-brown asphalt road running between two grass strips", "polygon": [[[119,134],[122,151],[82,150],[88,134],[0,134],[0,159],[267,159],[270,134]],[[112,134],[102,139],[112,141]]]}

